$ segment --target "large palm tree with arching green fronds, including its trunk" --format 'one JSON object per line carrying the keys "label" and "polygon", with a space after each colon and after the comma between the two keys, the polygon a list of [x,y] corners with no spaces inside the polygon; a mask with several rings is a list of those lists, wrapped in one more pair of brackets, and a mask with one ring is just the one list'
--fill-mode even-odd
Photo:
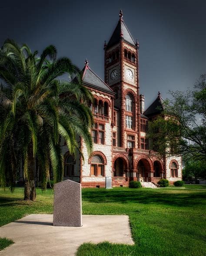
{"label": "large palm tree with arching green fronds, including its trunk", "polygon": [[[36,199],[35,160],[43,171],[43,189],[50,163],[54,182],[63,180],[60,137],[70,154],[79,149],[76,134],[85,141],[88,153],[92,151],[93,116],[88,107],[92,94],[81,85],[79,69],[69,58],[56,59],[56,53],[50,45],[38,58],[37,51],[32,53],[27,45],[20,47],[10,39],[0,50],[0,179],[5,187],[9,176],[13,190],[23,162],[25,200]],[[69,81],[60,79],[65,73]]]}

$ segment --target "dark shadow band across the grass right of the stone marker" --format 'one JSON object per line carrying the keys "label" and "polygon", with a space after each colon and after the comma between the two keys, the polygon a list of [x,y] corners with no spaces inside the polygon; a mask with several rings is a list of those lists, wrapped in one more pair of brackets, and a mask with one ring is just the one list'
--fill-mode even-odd
{"label": "dark shadow band across the grass right of the stone marker", "polygon": [[189,207],[203,205],[206,199],[205,193],[171,193],[146,189],[124,189],[124,190],[83,190],[83,201],[93,203],[140,203]]}

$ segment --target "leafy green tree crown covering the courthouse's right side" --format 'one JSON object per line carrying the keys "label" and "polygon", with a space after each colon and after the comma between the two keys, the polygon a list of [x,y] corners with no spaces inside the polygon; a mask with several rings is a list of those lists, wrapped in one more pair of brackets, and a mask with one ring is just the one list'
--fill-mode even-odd
{"label": "leafy green tree crown covering the courthouse's right side", "polygon": [[170,92],[163,112],[150,122],[148,138],[161,155],[187,156],[206,161],[206,75],[193,91]]}

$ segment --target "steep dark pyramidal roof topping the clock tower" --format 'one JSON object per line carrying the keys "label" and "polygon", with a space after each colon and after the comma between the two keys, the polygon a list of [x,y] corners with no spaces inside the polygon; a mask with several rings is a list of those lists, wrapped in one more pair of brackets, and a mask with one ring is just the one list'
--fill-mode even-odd
{"label": "steep dark pyramidal roof topping the clock tower", "polygon": [[136,46],[134,39],[132,38],[130,31],[128,30],[128,28],[126,27],[126,24],[124,23],[123,19],[120,18],[116,28],[110,38],[110,41],[107,44],[107,48],[112,47],[114,44],[117,44],[120,41],[120,34],[123,34],[123,39],[124,41],[132,44],[133,46]]}

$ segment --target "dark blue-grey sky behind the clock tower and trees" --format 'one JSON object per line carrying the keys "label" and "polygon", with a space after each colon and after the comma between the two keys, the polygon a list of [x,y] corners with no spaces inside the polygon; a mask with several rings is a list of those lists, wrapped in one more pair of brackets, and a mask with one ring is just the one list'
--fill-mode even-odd
{"label": "dark blue-grey sky behind the clock tower and trees", "polygon": [[206,73],[205,0],[22,0],[0,3],[0,45],[6,38],[41,52],[49,44],[104,78],[104,40],[116,27],[119,11],[140,42],[140,93],[146,106],[157,92],[192,88]]}

